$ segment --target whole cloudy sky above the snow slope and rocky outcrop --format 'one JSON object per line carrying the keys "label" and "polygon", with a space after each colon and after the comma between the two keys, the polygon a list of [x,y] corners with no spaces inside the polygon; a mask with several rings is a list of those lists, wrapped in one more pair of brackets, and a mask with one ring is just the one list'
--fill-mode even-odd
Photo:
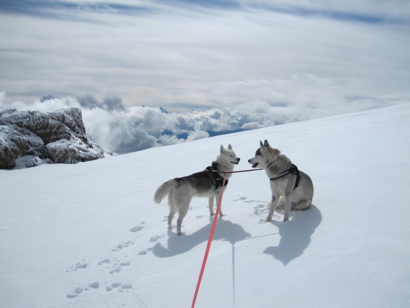
{"label": "whole cloudy sky above the snow slope and rocky outcrop", "polygon": [[[0,105],[79,106],[128,152],[408,103],[409,34],[399,0],[0,0]],[[136,131],[158,107],[178,115]],[[204,126],[215,112],[228,123]]]}

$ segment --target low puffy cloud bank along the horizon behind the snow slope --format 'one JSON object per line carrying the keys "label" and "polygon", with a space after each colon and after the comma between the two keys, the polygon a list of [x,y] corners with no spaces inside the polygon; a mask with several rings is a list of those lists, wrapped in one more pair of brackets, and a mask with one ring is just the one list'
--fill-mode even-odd
{"label": "low puffy cloud bank along the horizon behind the snow slope", "polygon": [[[346,87],[352,95],[344,95]],[[105,151],[124,154],[218,134],[410,102],[405,97],[355,95],[355,89],[360,92],[361,87],[360,83],[337,83],[314,75],[295,75],[290,80],[231,82],[215,87],[214,91],[226,91],[233,101],[238,101],[236,104],[188,112],[168,112],[144,105],[127,107],[116,95],[98,100],[92,94],[75,98],[46,94],[27,104],[7,103],[7,94],[0,92],[0,106],[44,112],[78,107],[83,111],[87,132],[94,141]],[[239,98],[244,93],[254,93],[261,100],[242,103]]]}

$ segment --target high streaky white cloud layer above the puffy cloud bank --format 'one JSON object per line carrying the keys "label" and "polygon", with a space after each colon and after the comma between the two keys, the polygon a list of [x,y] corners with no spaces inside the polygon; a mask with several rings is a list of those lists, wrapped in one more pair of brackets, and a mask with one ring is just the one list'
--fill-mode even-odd
{"label": "high streaky white cloud layer above the puffy cloud bank", "polygon": [[[345,97],[409,97],[408,8],[366,0],[3,1],[0,90],[8,103],[93,93],[103,104],[121,98],[106,108],[204,111],[281,104],[273,81],[313,75],[344,83]],[[229,92],[238,83],[247,91]]]}

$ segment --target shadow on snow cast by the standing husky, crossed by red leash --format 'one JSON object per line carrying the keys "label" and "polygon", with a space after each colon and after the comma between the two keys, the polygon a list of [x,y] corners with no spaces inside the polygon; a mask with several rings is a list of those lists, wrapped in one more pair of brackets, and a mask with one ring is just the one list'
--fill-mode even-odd
{"label": "shadow on snow cast by the standing husky, crossed by red leash", "polygon": [[[176,255],[180,255],[190,251],[195,246],[202,242],[207,242],[211,231],[212,221],[214,216],[210,217],[210,224],[197,230],[190,235],[177,236],[172,230],[168,230],[168,248],[163,247],[160,243],[156,243],[152,248],[152,253],[159,258],[168,258]],[[232,223],[229,220],[223,220],[222,217],[218,217],[218,223],[215,227],[214,240],[224,240],[235,244],[246,238],[250,238],[251,235],[238,224]]]}

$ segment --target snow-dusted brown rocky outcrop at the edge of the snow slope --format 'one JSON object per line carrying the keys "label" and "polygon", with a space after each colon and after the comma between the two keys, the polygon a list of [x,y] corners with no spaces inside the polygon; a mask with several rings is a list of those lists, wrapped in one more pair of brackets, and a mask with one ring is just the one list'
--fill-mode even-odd
{"label": "snow-dusted brown rocky outcrop at the edge of the snow slope", "polygon": [[86,133],[81,110],[19,111],[0,107],[0,169],[104,158]]}

